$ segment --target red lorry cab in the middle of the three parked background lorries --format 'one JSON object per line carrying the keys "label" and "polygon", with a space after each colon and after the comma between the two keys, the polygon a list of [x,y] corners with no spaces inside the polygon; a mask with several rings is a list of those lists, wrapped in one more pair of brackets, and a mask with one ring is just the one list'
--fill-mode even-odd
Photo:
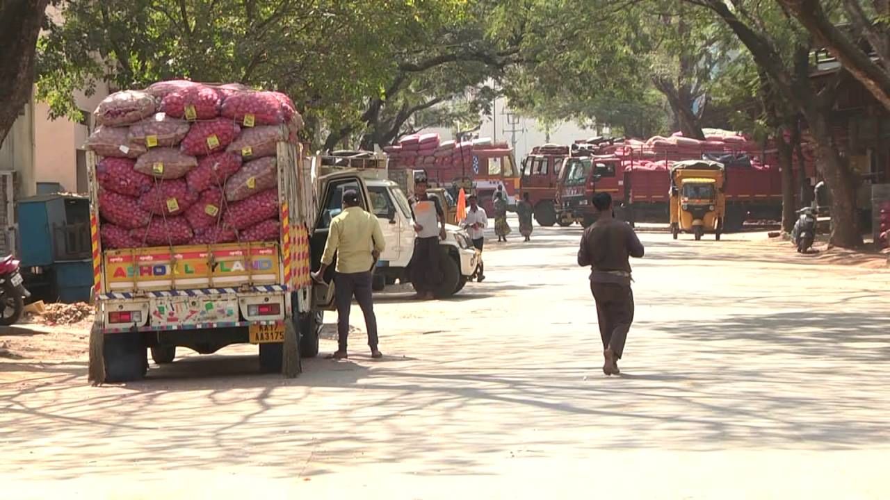
{"label": "red lorry cab in the middle of the three parked background lorries", "polygon": [[535,220],[541,226],[549,227],[557,222],[556,192],[562,162],[568,156],[568,146],[545,144],[531,149],[529,156],[522,160],[520,198],[529,194]]}

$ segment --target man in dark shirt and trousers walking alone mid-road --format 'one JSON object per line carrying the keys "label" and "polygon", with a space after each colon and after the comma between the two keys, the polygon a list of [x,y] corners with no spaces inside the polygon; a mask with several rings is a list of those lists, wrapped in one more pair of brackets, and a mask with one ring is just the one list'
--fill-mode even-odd
{"label": "man in dark shirt and trousers walking alone mid-road", "polygon": [[603,373],[618,375],[627,330],[634,321],[634,293],[630,289],[628,257],[642,257],[643,244],[626,222],[615,219],[609,193],[596,193],[599,219],[584,231],[578,265],[590,266],[590,290],[603,338]]}

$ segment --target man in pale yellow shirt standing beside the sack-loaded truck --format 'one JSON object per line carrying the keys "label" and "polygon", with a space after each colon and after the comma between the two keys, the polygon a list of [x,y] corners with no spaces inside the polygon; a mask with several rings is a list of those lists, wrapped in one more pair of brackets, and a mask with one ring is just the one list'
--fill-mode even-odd
{"label": "man in pale yellow shirt standing beside the sack-loaded truck", "polygon": [[321,268],[312,273],[312,279],[323,283],[325,271],[334,262],[334,254],[337,254],[334,286],[339,348],[328,358],[349,357],[346,353],[346,337],[349,336],[349,313],[353,296],[365,315],[371,357],[382,358],[383,354],[377,350],[377,319],[371,294],[371,273],[377,258],[386,247],[384,233],[380,230],[380,222],[377,222],[376,216],[361,208],[356,191],[344,192],[343,205],[343,213],[331,221],[325,253],[321,256]]}

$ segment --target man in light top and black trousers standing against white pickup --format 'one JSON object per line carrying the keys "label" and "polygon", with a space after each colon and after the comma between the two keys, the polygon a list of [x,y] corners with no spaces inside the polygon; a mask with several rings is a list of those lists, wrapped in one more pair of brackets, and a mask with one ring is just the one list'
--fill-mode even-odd
{"label": "man in light top and black trousers standing against white pickup", "polygon": [[[411,259],[411,283],[417,290],[418,300],[431,300],[442,282],[439,268],[440,239],[445,239],[445,212],[439,198],[426,194],[426,179],[414,183],[414,198],[411,200],[411,215],[414,217],[414,257]],[[441,229],[440,229],[441,226]]]}

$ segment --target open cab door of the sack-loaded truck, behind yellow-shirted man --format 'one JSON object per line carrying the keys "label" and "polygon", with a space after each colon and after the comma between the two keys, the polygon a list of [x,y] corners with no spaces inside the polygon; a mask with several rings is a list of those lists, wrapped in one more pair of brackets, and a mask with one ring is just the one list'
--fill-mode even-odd
{"label": "open cab door of the sack-loaded truck, behind yellow-shirted man", "polygon": [[[361,207],[368,209],[368,189],[365,182],[360,178],[358,173],[342,172],[331,173],[319,178],[320,193],[320,209],[319,216],[315,222],[315,232],[312,233],[310,246],[312,249],[312,272],[321,267],[321,255],[325,252],[325,243],[328,241],[328,231],[330,230],[331,221],[338,214],[343,212],[343,193],[347,190],[356,190],[360,194]],[[334,269],[336,267],[336,256],[334,262],[325,272],[325,285],[312,287],[314,308],[324,308],[328,310],[334,309]]]}

